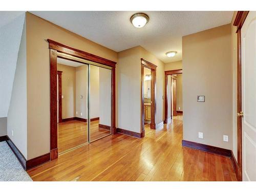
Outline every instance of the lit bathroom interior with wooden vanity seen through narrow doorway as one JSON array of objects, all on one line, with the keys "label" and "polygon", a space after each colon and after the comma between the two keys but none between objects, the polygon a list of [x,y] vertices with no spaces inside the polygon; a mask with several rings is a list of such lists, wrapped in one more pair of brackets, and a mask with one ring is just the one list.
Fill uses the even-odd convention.
[{"label": "lit bathroom interior with wooden vanity seen through narrow doorway", "polygon": [[144,124],[151,124],[151,70],[144,67]]}]

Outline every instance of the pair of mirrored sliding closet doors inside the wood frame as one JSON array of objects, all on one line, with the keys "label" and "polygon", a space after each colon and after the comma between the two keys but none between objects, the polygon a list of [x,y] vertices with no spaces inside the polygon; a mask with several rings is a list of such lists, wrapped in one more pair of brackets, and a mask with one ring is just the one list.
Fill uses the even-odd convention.
[{"label": "pair of mirrored sliding closet doors inside the wood frame", "polygon": [[111,134],[111,68],[65,54],[57,57],[58,153]]}]

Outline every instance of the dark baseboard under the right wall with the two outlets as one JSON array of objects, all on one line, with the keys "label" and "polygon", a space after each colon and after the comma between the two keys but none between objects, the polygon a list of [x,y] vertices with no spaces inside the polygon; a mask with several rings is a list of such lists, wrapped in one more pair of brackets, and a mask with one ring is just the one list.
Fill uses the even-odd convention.
[{"label": "dark baseboard under the right wall with the two outlets", "polygon": [[217,146],[205,145],[202,143],[196,143],[196,142],[186,141],[186,140],[182,140],[182,146],[194,148],[195,150],[201,150],[204,152],[223,155],[226,157],[231,157],[231,150],[227,150],[225,148],[220,148]]}]

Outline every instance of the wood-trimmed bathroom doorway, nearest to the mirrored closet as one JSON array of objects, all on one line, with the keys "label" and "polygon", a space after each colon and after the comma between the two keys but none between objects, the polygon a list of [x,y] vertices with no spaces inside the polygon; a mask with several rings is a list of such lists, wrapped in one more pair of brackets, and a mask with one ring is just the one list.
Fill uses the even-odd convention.
[{"label": "wood-trimmed bathroom doorway, nearest to the mirrored closet", "polygon": [[156,129],[156,68],[141,58],[141,137],[145,136],[145,126]]}]

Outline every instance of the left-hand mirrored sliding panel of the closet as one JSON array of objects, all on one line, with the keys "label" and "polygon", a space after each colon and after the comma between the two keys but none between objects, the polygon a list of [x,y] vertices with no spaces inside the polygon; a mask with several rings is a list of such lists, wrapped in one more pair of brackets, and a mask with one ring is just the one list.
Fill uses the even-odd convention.
[{"label": "left-hand mirrored sliding panel of the closet", "polygon": [[57,58],[58,152],[88,139],[88,65]]}]

